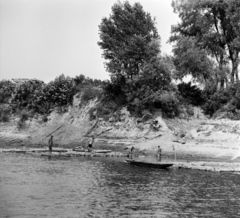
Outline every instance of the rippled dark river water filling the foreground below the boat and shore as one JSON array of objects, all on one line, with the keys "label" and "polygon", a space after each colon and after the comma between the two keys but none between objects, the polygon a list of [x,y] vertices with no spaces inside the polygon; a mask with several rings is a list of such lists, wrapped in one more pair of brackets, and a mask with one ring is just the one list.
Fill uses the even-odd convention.
[{"label": "rippled dark river water filling the foreground below the boat and shore", "polygon": [[0,217],[240,217],[240,175],[0,154]]}]

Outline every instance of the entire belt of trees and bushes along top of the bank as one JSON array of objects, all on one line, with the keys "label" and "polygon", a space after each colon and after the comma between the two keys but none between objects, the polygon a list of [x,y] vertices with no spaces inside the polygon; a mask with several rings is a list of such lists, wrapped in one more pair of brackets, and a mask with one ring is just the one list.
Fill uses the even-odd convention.
[{"label": "entire belt of trees and bushes along top of the bank", "polygon": [[[98,45],[110,80],[62,75],[48,84],[34,80],[18,87],[1,81],[0,103],[10,103],[14,113],[47,114],[64,111],[80,93],[82,102],[99,98],[92,118],[111,117],[122,107],[135,116],[161,111],[181,117],[199,106],[210,117],[239,119],[240,2],[173,0],[172,6],[180,17],[169,39],[172,56],[161,54],[156,20],[141,4],[117,2],[99,25]],[[195,85],[184,83],[186,76]]]}]

